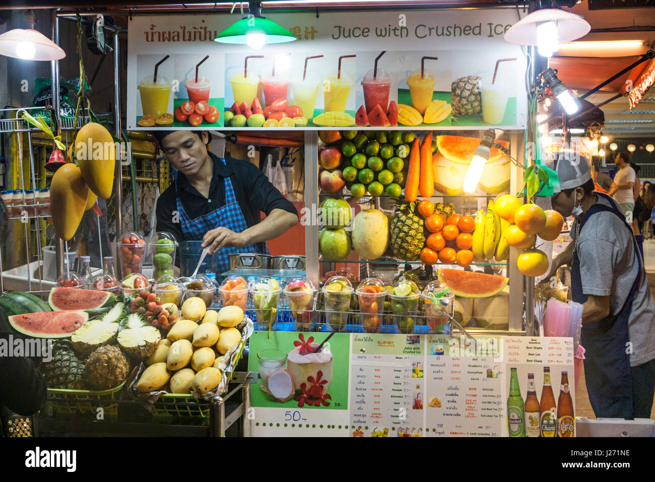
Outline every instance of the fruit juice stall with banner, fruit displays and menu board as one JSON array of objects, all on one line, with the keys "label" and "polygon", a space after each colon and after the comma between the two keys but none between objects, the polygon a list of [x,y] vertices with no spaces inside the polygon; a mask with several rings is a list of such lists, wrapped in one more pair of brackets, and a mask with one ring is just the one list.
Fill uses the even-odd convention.
[{"label": "fruit juice stall with banner, fruit displays and menu board", "polygon": [[[122,152],[92,163],[69,151],[77,164],[59,167],[50,188],[60,277],[47,303],[0,298],[16,331],[58,332],[42,367],[48,432],[77,420],[87,433],[102,407],[118,414],[107,433],[219,434],[236,421],[244,435],[525,433],[499,401],[489,408],[464,388],[506,397],[512,363],[523,393],[529,370],[572,371],[572,342],[534,326],[534,278],[549,264],[539,243],[561,219],[534,203],[546,171],[526,156],[527,58],[503,37],[515,12],[408,10],[398,30],[387,16],[398,23],[394,12],[271,14],[299,41],[261,49],[212,42],[231,23],[222,14],[130,17],[131,132],[215,129],[254,150],[262,137],[297,145],[285,131],[303,132],[305,253],[244,253],[221,273],[170,233],[146,237],[117,220],[113,258],[76,273],[63,242],[90,193],[121,199]],[[83,129],[115,139],[100,123]],[[184,277],[176,257],[190,266]],[[531,344],[548,343],[555,353],[535,359]],[[130,406],[150,422],[126,422]],[[180,425],[189,418],[200,432]]]}]

